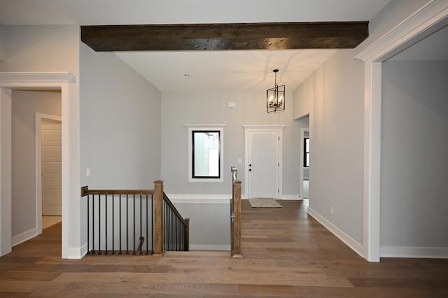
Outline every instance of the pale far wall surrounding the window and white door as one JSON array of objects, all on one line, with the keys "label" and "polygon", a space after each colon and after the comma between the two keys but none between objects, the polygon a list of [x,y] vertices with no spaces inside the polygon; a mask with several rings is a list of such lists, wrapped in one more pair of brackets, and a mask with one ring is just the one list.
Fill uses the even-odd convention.
[{"label": "pale far wall surrounding the window and white door", "polygon": [[[286,94],[293,94],[286,90]],[[291,90],[292,91],[292,90]],[[283,195],[298,197],[300,127],[293,121],[292,96],[286,110],[267,114],[266,91],[172,92],[162,94],[162,178],[169,194],[221,194],[232,192],[230,166],[237,166],[244,181],[244,128],[242,125],[287,125],[283,129]],[[235,108],[228,108],[228,101]],[[188,182],[188,128],[185,125],[225,124],[223,183]],[[241,163],[237,159],[241,159]]]}]

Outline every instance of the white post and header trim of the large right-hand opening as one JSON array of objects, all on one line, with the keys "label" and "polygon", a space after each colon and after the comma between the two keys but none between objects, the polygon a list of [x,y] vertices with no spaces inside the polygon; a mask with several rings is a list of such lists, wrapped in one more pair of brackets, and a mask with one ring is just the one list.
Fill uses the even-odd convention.
[{"label": "white post and header trim of the large right-hand opening", "polygon": [[363,257],[379,262],[382,62],[448,24],[447,1],[431,0],[354,58],[364,62]]}]

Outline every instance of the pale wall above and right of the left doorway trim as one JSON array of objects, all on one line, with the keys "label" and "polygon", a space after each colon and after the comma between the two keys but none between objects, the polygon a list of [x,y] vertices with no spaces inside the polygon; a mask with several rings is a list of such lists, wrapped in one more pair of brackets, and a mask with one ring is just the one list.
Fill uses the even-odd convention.
[{"label": "pale wall above and right of the left doorway trim", "polygon": [[[4,60],[0,71],[69,72],[77,82],[69,85],[69,127],[71,139],[68,165],[69,222],[68,246],[80,247],[79,183],[79,40],[78,26],[3,26]],[[63,119],[64,121],[64,119]],[[3,137],[3,135],[2,135]],[[2,227],[3,229],[3,227]],[[3,229],[4,230],[4,229]],[[3,231],[2,230],[2,231]]]}]

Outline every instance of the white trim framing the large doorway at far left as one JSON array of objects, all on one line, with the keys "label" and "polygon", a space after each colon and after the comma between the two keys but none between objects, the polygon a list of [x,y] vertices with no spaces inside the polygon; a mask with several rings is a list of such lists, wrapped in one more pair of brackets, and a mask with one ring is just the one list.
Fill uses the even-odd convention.
[{"label": "white trim framing the large doorway at far left", "polygon": [[[78,120],[78,110],[70,108],[69,99],[71,91],[69,85],[75,83],[75,76],[71,73],[0,73],[0,256],[12,251],[12,90],[45,88],[61,90],[61,116],[62,116],[62,258],[79,258],[80,253],[71,252],[69,248],[69,204],[71,187],[76,186],[79,192],[79,169],[71,163],[71,155],[77,154],[78,140],[73,136],[78,135],[78,128],[72,127],[71,120]],[[75,141],[73,141],[75,140]],[[70,143],[70,141],[73,141]],[[70,146],[71,145],[71,146]],[[71,148],[73,147],[73,148]],[[73,192],[72,192],[73,193]],[[74,199],[74,198],[73,198]],[[72,204],[73,205],[73,204]],[[74,215],[72,215],[73,217]],[[79,255],[79,256],[78,256]]]}]

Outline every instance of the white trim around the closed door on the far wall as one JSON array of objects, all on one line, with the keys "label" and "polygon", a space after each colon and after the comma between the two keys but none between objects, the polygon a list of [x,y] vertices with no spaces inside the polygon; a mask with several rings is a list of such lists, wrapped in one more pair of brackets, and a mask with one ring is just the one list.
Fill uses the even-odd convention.
[{"label": "white trim around the closed door on the far wall", "polygon": [[279,199],[283,197],[283,129],[286,125],[243,125],[244,128],[244,181],[246,187],[244,187],[244,198],[248,198],[248,157],[249,157],[249,132],[277,132],[280,136],[279,141]]}]

